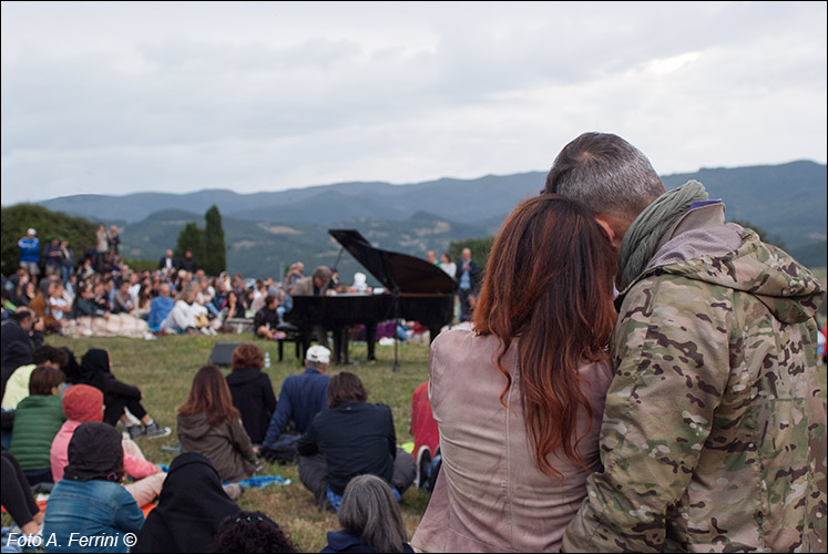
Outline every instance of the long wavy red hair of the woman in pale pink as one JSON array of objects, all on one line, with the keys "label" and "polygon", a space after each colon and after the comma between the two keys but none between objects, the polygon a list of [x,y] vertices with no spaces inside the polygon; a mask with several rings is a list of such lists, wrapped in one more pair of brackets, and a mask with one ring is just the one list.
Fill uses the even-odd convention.
[{"label": "long wavy red hair of the woman in pale pink", "polygon": [[[502,360],[518,343],[521,401],[535,464],[560,476],[549,454],[563,453],[586,469],[574,437],[577,412],[592,409],[577,368],[606,357],[615,324],[615,254],[584,206],[556,194],[523,202],[494,240],[473,314],[480,335],[494,335],[502,350],[493,357],[511,387]],[[589,432],[589,430],[587,430]],[[585,433],[584,433],[585,434]]]}]

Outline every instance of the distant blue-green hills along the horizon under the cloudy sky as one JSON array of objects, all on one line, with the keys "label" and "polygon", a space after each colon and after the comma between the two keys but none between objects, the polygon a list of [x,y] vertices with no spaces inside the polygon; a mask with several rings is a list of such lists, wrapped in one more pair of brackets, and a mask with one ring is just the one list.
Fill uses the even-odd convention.
[{"label": "distant blue-green hills along the horizon under the cloudy sky", "polygon": [[[779,237],[789,250],[800,248],[808,259],[819,259],[818,244],[826,240],[828,227],[826,176],[824,164],[793,162],[703,168],[662,178],[668,189],[691,178],[704,183],[712,198],[725,201],[728,219],[747,220]],[[309,267],[333,265],[339,246],[327,234],[329,228],[356,228],[378,247],[415,256],[443,252],[452,240],[494,233],[521,199],[541,191],[544,181],[545,172],[531,172],[410,185],[338,183],[256,194],[213,189],[76,195],[38,204],[123,225],[126,255],[146,259],[157,259],[175,246],[187,222],[203,227],[204,213],[215,204],[222,213],[229,269],[257,277],[278,275],[297,259]],[[350,255],[343,255],[344,277],[359,267]]]}]

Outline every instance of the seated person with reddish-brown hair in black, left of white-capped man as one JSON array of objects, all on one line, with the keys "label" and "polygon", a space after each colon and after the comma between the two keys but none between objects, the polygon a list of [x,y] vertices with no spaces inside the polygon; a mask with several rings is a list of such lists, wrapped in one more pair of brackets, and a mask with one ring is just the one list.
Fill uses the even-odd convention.
[{"label": "seated person with reddish-brown hair in black, left of white-capped man", "polygon": [[276,397],[267,373],[262,371],[265,357],[256,345],[239,345],[233,351],[233,371],[226,377],[233,406],[242,413],[242,423],[254,444],[260,444],[276,409]]}]

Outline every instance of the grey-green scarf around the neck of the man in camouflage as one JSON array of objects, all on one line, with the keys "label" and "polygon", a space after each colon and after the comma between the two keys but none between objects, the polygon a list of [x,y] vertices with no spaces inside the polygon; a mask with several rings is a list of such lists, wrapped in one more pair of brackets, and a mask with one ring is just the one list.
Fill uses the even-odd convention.
[{"label": "grey-green scarf around the neck of the man in camouflage", "polygon": [[647,268],[658,243],[694,202],[706,201],[707,191],[698,181],[688,181],[662,194],[630,225],[619,250],[621,275],[617,288],[624,290]]}]

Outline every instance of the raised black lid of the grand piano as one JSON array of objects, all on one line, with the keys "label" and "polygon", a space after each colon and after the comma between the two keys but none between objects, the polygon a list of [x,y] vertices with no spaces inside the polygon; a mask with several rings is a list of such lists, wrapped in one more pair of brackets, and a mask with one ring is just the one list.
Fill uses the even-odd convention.
[{"label": "raised black lid of the grand piano", "polygon": [[413,295],[450,295],[457,283],[446,271],[422,258],[375,248],[356,229],[328,229],[389,291]]}]

